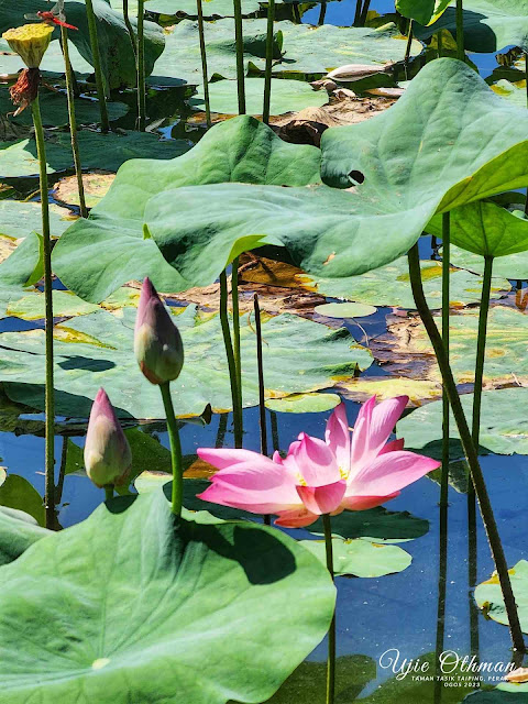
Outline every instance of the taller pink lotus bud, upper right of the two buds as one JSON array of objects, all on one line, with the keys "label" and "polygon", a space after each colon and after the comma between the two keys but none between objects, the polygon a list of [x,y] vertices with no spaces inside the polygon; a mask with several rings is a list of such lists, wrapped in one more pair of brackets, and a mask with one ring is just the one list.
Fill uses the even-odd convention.
[{"label": "taller pink lotus bud, upper right of the two buds", "polygon": [[151,384],[173,382],[184,365],[184,344],[150,278],[141,289],[135,319],[134,353]]}]

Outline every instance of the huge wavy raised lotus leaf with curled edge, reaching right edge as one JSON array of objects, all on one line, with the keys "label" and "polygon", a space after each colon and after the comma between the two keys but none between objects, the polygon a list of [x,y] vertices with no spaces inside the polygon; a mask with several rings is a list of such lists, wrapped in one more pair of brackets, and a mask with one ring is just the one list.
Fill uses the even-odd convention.
[{"label": "huge wavy raised lotus leaf with curled edge, reaching right edge", "polygon": [[[167,189],[148,201],[145,223],[194,285],[213,282],[249,244],[284,246],[309,274],[363,274],[405,254],[437,210],[527,184],[527,110],[442,58],[389,110],[323,133],[322,176],[339,188]],[[358,185],[345,190],[349,174]]]}]

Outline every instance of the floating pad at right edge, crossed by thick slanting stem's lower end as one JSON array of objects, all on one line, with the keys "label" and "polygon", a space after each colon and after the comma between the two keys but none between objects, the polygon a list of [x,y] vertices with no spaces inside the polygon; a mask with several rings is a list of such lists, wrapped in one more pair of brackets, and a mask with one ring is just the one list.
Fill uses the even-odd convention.
[{"label": "floating pad at right edge, crossed by thick slanting stem's lower end", "polygon": [[[528,632],[528,562],[520,560],[508,570],[514,590],[515,603],[519,614],[522,631]],[[475,588],[475,601],[485,610],[486,616],[499,624],[508,625],[508,617],[498,578],[494,574]]]}]

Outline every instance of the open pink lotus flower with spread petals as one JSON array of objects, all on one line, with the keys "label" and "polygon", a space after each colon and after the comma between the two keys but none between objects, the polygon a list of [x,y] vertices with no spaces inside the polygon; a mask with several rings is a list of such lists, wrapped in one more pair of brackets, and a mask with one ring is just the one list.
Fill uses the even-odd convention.
[{"label": "open pink lotus flower with spread petals", "polygon": [[326,440],[300,433],[283,460],[250,450],[210,450],[198,455],[219,469],[199,498],[253,514],[276,514],[278,526],[309,526],[322,514],[374,508],[440,466],[387,440],[408,402],[398,396],[361,408],[352,438],[344,404],[327,422]]}]

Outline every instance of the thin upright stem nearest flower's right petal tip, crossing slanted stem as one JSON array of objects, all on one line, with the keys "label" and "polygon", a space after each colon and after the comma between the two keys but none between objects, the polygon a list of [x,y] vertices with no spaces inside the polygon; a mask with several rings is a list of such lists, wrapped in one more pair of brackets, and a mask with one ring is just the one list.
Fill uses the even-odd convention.
[{"label": "thin upright stem nearest flower's right petal tip, crossing slanted stem", "polygon": [[[442,215],[442,342],[449,362],[449,304],[451,268],[451,219]],[[442,389],[442,474],[440,481],[440,506],[448,506],[449,493],[449,398]]]}]

